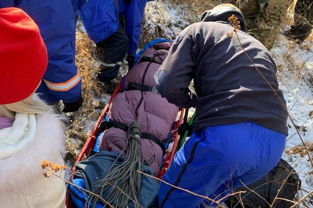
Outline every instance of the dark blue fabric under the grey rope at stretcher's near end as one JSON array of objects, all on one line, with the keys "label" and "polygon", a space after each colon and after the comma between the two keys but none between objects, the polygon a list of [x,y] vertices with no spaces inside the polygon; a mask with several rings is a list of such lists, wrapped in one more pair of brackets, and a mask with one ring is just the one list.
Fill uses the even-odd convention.
[{"label": "dark blue fabric under the grey rope at stretcher's near end", "polygon": [[[71,180],[72,183],[81,186],[82,184],[79,184],[77,180],[83,179],[85,189],[87,189],[88,191],[93,191],[94,183],[101,178],[105,178],[109,169],[115,161],[116,165],[121,165],[123,163],[124,158],[118,157],[119,154],[119,152],[100,151],[99,153],[96,153],[89,158],[76,163],[76,172],[74,173],[74,177]],[[140,170],[147,175],[154,176],[153,171],[149,166],[142,165]],[[67,188],[69,190],[69,193],[71,194],[73,205],[71,208],[85,207],[86,198],[82,197],[81,194],[78,195],[78,189],[72,184],[69,184]],[[158,180],[152,177],[148,177],[146,175],[141,175],[140,192],[137,197],[138,203],[144,208],[158,207],[159,188],[160,183],[158,182]],[[102,193],[101,196],[103,199],[107,199],[107,196],[110,193],[111,189],[112,187]],[[101,203],[101,200],[99,200],[99,205],[97,205],[96,207],[99,207],[100,204],[101,206],[104,205]],[[129,200],[128,207],[134,208],[134,202]]]}]

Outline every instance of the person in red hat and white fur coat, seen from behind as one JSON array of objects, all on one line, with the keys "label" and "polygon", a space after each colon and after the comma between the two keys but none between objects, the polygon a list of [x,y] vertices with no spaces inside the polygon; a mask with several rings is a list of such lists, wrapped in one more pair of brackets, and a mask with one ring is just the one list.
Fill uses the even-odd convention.
[{"label": "person in red hat and white fur coat, seen from behind", "polygon": [[48,63],[39,29],[21,9],[0,9],[0,45],[0,206],[65,207],[65,183],[40,166],[64,164],[65,134],[34,93]]}]

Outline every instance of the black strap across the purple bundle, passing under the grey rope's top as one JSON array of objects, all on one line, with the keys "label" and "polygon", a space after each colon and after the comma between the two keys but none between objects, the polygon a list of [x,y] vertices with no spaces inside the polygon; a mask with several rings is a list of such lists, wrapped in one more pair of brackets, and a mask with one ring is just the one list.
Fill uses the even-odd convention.
[{"label": "black strap across the purple bundle, passing under the grey rope's top", "polygon": [[[98,132],[103,132],[106,129],[109,129],[111,127],[122,129],[125,132],[127,132],[127,130],[128,130],[128,125],[126,125],[123,122],[120,122],[120,121],[102,121],[102,123],[99,126]],[[154,142],[155,144],[159,145],[163,151],[163,155],[165,155],[166,150],[165,150],[164,144],[160,142],[158,137],[156,137],[150,133],[141,132],[141,138],[146,138],[147,140],[150,140],[150,141]]]}]

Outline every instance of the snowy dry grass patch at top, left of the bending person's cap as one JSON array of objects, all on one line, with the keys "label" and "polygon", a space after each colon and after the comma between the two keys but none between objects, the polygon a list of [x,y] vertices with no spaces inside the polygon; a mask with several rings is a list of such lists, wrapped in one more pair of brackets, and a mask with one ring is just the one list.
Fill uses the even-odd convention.
[{"label": "snowy dry grass patch at top, left of the bending person's cap", "polygon": [[[158,2],[149,2],[147,5],[139,47],[143,47],[155,38],[175,40],[185,27],[200,20],[203,8],[210,10],[214,7],[212,1],[191,0],[159,0]],[[169,11],[184,17],[184,21],[180,18],[175,19]]]}]

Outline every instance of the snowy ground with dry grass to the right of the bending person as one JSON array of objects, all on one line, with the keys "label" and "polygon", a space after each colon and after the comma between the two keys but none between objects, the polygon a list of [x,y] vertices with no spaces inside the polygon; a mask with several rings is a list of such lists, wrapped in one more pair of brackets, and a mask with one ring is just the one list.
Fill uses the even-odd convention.
[{"label": "snowy ground with dry grass to the right of the bending person", "polygon": [[[283,158],[299,173],[302,181],[299,193],[301,198],[313,190],[313,169],[310,162],[313,157],[313,50],[309,41],[295,44],[283,35],[280,39],[271,52],[278,68],[281,67],[278,78],[280,89],[287,101],[287,109],[303,140],[302,142],[296,128],[288,119],[289,135]],[[303,143],[310,150],[310,159],[305,153]],[[312,202],[313,197],[310,196],[303,205],[313,207]]]}]

